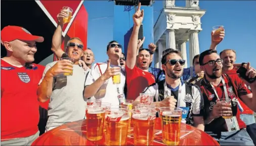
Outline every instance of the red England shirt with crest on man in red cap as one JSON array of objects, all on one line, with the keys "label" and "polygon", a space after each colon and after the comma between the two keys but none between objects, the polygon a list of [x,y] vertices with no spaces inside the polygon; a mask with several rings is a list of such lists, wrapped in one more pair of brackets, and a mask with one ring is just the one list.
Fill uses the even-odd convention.
[{"label": "red England shirt with crest on man in red cap", "polygon": [[15,67],[1,59],[1,140],[38,131],[37,87],[45,67]]}]

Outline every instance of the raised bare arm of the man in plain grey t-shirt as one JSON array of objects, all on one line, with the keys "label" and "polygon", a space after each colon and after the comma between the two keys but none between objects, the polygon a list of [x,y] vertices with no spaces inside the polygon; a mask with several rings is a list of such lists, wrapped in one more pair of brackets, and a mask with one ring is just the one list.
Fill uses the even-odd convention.
[{"label": "raised bare arm of the man in plain grey t-shirt", "polygon": [[61,42],[62,42],[62,28],[63,28],[63,18],[67,17],[67,13],[61,10],[61,12],[57,15],[58,18],[58,25],[53,34],[52,40],[52,52],[54,55],[60,60],[63,53],[65,53],[61,49]]}]

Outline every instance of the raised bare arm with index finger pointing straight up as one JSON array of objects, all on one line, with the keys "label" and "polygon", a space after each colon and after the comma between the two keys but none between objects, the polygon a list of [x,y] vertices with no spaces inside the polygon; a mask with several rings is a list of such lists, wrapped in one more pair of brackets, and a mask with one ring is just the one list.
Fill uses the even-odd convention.
[{"label": "raised bare arm with index finger pointing straight up", "polygon": [[144,11],[141,10],[141,3],[139,3],[137,12],[133,16],[134,27],[133,27],[132,35],[130,37],[129,44],[128,44],[128,49],[127,49],[126,66],[130,69],[133,69],[134,66],[136,65],[138,35],[139,35],[140,26],[143,21],[143,17],[144,17]]}]

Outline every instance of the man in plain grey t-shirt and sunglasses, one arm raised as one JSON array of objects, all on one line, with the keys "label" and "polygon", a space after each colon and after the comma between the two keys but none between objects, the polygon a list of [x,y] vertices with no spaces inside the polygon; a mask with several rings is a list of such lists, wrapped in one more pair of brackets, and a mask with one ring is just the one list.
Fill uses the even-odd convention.
[{"label": "man in plain grey t-shirt and sunglasses, one arm raised", "polygon": [[[61,49],[62,19],[66,16],[63,10],[58,14],[59,23],[53,35],[52,51],[58,59],[71,58],[73,62],[60,60],[47,64],[37,92],[40,102],[51,99],[46,131],[67,122],[82,120],[86,110],[82,92],[87,71],[78,65],[83,56],[83,43],[78,37],[74,37],[67,42],[67,54]],[[63,75],[70,73],[70,70],[73,75]]]}]

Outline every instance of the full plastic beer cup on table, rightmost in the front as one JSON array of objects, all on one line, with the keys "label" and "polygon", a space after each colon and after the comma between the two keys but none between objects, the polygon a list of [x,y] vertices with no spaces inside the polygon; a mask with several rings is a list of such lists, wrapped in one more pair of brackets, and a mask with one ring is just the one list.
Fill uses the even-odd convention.
[{"label": "full plastic beer cup on table, rightmost in the front", "polygon": [[179,145],[181,135],[181,108],[162,107],[160,118],[162,125],[162,141],[166,145]]}]

